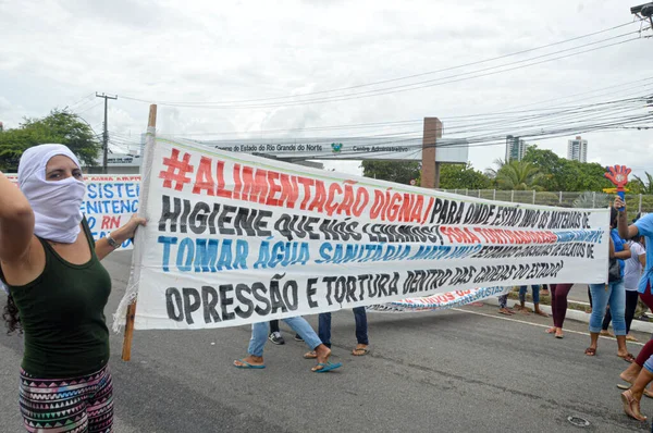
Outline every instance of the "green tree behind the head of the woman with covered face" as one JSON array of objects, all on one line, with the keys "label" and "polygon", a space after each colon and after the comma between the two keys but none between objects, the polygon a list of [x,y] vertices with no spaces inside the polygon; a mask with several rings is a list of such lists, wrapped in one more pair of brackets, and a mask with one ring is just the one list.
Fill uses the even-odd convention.
[{"label": "green tree behind the head of the woman with covered face", "polygon": [[36,145],[67,146],[84,165],[96,165],[101,149],[90,126],[76,114],[52,110],[42,119],[25,119],[20,127],[0,132],[0,170],[15,172],[23,152]]}]

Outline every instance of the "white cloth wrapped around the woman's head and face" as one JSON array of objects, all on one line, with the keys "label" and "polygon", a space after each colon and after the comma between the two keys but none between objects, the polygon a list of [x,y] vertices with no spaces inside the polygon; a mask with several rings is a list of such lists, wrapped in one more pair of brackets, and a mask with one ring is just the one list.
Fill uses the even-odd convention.
[{"label": "white cloth wrapped around the woman's head and face", "polygon": [[71,176],[47,181],[46,165],[62,154],[79,168],[77,157],[63,145],[39,145],[23,152],[19,163],[19,186],[34,211],[34,234],[44,239],[72,244],[79,235],[86,184]]}]

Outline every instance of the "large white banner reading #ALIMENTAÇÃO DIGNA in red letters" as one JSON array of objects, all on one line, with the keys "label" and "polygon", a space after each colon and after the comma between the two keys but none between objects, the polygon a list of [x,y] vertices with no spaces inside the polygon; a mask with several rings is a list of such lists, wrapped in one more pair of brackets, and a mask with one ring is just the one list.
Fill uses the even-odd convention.
[{"label": "large white banner reading #ALIMENTA\u00c7\u00c3O DIGNA in red letters", "polygon": [[149,224],[121,302],[137,293],[136,329],[607,277],[608,209],[479,200],[161,137],[148,151]]}]

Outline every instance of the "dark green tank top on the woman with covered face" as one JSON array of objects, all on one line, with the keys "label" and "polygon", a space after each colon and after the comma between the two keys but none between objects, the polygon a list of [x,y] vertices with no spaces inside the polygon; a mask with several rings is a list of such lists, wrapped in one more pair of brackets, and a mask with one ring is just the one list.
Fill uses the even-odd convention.
[{"label": "dark green tank top on the woman with covered face", "polygon": [[[36,378],[86,375],[109,361],[104,307],[111,277],[95,253],[86,219],[82,225],[90,246],[87,263],[69,263],[39,238],[46,251],[44,272],[24,286],[8,285],[25,333],[22,367]],[[0,276],[4,280],[1,269]]]}]

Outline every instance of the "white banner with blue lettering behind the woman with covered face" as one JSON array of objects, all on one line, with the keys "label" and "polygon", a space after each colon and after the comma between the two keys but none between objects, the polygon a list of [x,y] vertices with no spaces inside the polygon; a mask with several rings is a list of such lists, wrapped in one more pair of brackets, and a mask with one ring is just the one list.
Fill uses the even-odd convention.
[{"label": "white banner with blue lettering behind the woman with covered face", "polygon": [[[5,174],[7,178],[19,183],[16,174]],[[82,203],[82,213],[86,215],[90,233],[95,240],[107,236],[113,230],[125,224],[138,212],[140,195],[140,175],[138,174],[85,174],[86,197]],[[132,249],[127,239],[122,249]]]}]

